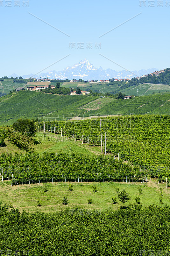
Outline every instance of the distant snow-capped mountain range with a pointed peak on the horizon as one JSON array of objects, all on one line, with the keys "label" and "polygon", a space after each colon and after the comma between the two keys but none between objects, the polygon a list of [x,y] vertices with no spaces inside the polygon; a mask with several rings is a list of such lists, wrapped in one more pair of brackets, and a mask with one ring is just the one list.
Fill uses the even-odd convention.
[{"label": "distant snow-capped mountain range with a pointed peak on the horizon", "polygon": [[[132,78],[137,76],[143,76],[146,74],[150,74],[154,71],[158,71],[157,68],[149,68],[149,69],[141,69],[139,71],[128,71],[128,70],[122,70],[122,71],[115,71],[113,69],[106,69],[104,70],[102,67],[96,68],[91,64],[87,59],[81,60],[79,63],[75,64],[72,67],[66,67],[61,71],[51,70],[46,73],[41,73],[39,75],[29,74],[29,75],[23,75],[22,77],[24,79],[26,78],[36,78],[40,79],[40,77],[48,77],[49,79],[83,79],[83,80],[107,80],[111,78],[115,79],[125,79],[125,78]],[[12,74],[8,77],[13,76],[18,77],[17,74]]]}]

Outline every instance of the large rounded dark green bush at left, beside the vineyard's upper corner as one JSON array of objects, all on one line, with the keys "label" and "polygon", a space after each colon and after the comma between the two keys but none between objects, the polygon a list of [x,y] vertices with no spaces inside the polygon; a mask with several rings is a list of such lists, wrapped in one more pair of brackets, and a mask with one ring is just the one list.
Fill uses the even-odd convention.
[{"label": "large rounded dark green bush at left, beside the vineyard's upper corner", "polygon": [[33,136],[37,130],[34,120],[21,118],[12,124],[12,128],[18,132],[26,132],[29,137]]}]

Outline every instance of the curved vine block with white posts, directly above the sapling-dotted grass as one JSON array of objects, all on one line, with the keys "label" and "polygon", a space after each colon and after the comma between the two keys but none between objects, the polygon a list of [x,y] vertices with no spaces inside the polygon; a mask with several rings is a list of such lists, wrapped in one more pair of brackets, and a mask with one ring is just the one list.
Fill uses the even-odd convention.
[{"label": "curved vine block with white posts, directly above the sapling-dotted grass", "polygon": [[145,171],[120,163],[114,156],[83,156],[54,152],[45,152],[40,156],[31,152],[15,156],[2,154],[0,166],[3,177],[11,180],[12,174],[14,175],[13,184],[61,181],[144,182],[147,178]]}]

